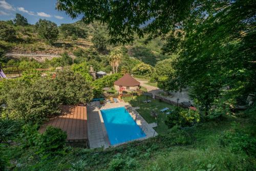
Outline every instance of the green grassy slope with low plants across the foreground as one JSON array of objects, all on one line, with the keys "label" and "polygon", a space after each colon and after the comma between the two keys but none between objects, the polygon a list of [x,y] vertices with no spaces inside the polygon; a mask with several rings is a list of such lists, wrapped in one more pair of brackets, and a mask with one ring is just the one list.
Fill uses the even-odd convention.
[{"label": "green grassy slope with low plants across the foreground", "polygon": [[[250,129],[253,123],[247,122],[251,118],[239,120],[242,121],[241,123],[247,123],[245,126],[240,125],[239,130],[247,132],[250,139],[253,138],[253,130]],[[16,163],[9,162],[6,168],[20,170],[207,170],[209,164],[211,168],[217,170],[255,169],[253,156],[248,156],[243,150],[239,151],[238,155],[230,148],[233,143],[236,144],[233,140],[241,137],[240,135],[234,134],[231,139],[226,137],[229,143],[225,145],[221,142],[222,133],[238,131],[233,130],[230,122],[231,118],[228,118],[227,121],[203,123],[188,129],[175,126],[166,136],[157,136],[104,150],[64,147],[57,153],[54,152],[54,155],[47,156],[36,153],[39,149],[37,145],[20,148],[14,143],[2,148],[3,155],[0,158],[8,162],[17,160]],[[60,133],[54,134],[53,142],[58,139],[58,134]]]}]

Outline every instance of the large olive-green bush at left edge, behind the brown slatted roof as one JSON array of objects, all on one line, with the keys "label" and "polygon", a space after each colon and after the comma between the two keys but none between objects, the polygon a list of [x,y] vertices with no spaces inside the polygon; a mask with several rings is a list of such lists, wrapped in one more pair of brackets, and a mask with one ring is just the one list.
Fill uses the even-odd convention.
[{"label": "large olive-green bush at left edge, behind the brown slatted roof", "polygon": [[1,94],[0,99],[7,103],[9,117],[23,119],[26,122],[42,122],[59,114],[59,97],[58,92],[54,90],[53,80],[29,80],[22,77],[4,84],[2,90],[5,90],[5,93]]}]

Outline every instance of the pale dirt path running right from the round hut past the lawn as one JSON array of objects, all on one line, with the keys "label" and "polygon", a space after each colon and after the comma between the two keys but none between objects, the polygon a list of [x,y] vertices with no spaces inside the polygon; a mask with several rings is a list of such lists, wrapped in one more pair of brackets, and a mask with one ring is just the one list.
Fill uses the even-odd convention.
[{"label": "pale dirt path running right from the round hut past the lawn", "polygon": [[[146,88],[148,93],[152,93],[153,97],[155,97],[155,95],[159,95],[161,92],[163,92],[163,90],[160,90],[157,87],[147,85],[146,83],[148,81],[144,81],[144,80],[140,80],[140,79],[137,79],[137,81],[140,82],[140,85],[142,87]],[[183,90],[182,92],[171,92],[171,94],[172,94],[172,97],[166,97],[166,98],[170,99],[172,101],[177,101],[177,98],[179,98],[179,102],[190,100],[191,103],[193,103],[193,100],[189,99],[188,90]]]}]

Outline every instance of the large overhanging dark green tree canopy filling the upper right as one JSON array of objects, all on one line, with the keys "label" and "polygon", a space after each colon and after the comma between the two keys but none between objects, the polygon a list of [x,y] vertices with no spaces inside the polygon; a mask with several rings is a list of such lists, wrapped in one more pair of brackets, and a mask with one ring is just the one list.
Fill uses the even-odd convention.
[{"label": "large overhanging dark green tree canopy filling the upper right", "polygon": [[[167,90],[191,87],[206,113],[255,92],[255,1],[59,0],[57,9],[82,14],[86,23],[105,23],[110,42],[129,42],[135,34],[147,34],[146,42],[165,39],[163,52],[178,57],[162,83]],[[225,86],[231,90],[222,91]]]}]

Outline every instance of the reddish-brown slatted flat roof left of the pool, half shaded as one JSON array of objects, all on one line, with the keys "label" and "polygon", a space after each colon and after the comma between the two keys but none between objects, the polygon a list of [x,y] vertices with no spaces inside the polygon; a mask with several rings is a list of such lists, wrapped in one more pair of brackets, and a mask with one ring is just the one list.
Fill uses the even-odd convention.
[{"label": "reddish-brown slatted flat roof left of the pool, half shaded", "polygon": [[49,125],[59,127],[62,131],[67,132],[67,141],[69,142],[88,143],[86,106],[62,105],[61,115],[42,125],[39,132],[44,132]]}]

